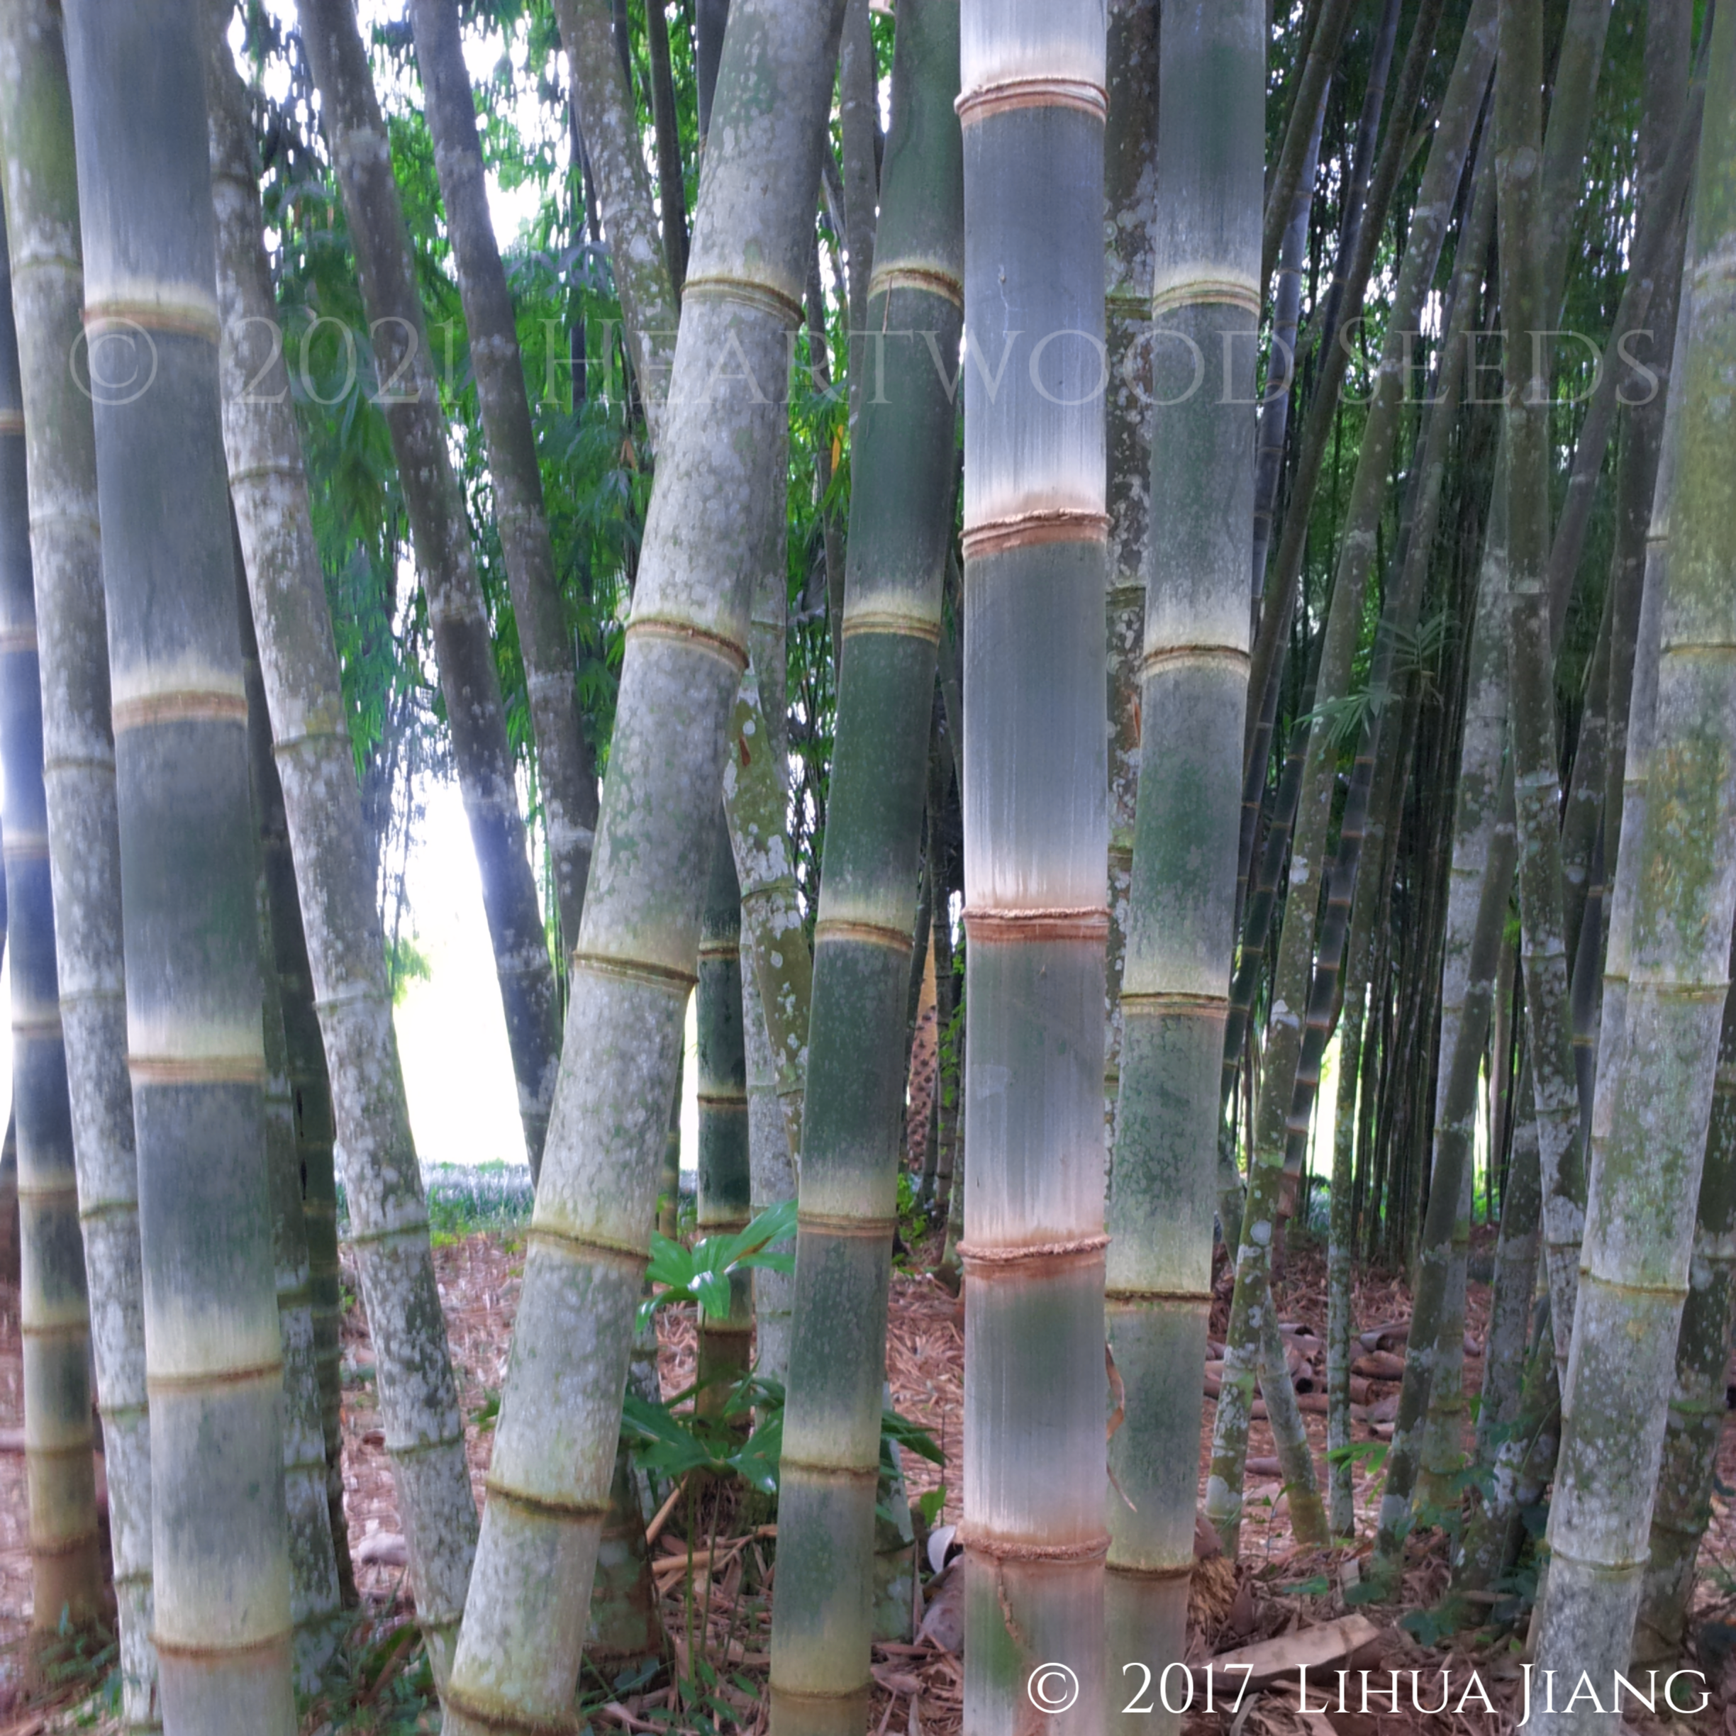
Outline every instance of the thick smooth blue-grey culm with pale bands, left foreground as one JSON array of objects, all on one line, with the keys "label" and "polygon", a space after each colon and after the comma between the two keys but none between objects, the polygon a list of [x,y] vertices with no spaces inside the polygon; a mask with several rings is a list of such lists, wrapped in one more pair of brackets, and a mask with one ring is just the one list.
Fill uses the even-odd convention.
[{"label": "thick smooth blue-grey culm with pale bands, left foreground", "polygon": [[130,401],[97,394],[94,418],[163,1724],[175,1736],[293,1736],[257,840],[219,420],[203,24],[186,0],[125,12],[76,0],[66,57],[85,332],[118,354],[148,349],[155,366]]}]

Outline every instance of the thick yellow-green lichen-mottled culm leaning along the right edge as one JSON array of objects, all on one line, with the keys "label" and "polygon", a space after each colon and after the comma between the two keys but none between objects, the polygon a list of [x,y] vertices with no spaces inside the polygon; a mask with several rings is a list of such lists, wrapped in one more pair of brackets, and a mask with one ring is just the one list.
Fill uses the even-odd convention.
[{"label": "thick yellow-green lichen-mottled culm leaning along the right edge", "polygon": [[[1608,1132],[1594,1153],[1536,1639],[1538,1665],[1557,1670],[1627,1658],[1634,1639],[1736,911],[1736,16],[1720,9],[1712,30],[1672,382],[1679,444],[1653,509],[1672,543],[1656,734],[1644,832],[1618,870],[1634,887],[1627,1040],[1597,1082],[1611,1108],[1595,1116]],[[1583,1708],[1543,1720],[1550,1733],[1592,1724]]]}]

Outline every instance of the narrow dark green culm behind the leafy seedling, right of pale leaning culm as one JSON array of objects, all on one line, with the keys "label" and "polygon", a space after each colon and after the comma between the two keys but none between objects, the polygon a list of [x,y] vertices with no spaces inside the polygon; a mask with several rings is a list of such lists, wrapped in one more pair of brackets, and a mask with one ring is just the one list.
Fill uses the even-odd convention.
[{"label": "narrow dark green culm behind the leafy seedling, right of pale leaning culm", "polygon": [[[752,1213],[748,1172],[748,1064],[741,1031],[741,887],[719,809],[712,871],[700,911],[700,1175],[701,1236],[733,1236]],[[746,1272],[729,1279],[726,1319],[700,1316],[701,1408],[720,1408],[729,1382],[753,1359],[753,1292]]]}]

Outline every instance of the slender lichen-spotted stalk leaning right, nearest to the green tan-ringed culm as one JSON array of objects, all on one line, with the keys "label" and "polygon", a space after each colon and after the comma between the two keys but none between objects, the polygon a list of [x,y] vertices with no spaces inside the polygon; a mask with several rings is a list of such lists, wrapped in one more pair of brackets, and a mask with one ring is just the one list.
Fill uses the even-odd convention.
[{"label": "slender lichen-spotted stalk leaning right, nearest to the green tan-ringed culm", "polygon": [[[1422,24],[1418,23],[1417,28],[1420,30]],[[1493,0],[1479,0],[1465,21],[1458,56],[1441,99],[1441,118],[1429,148],[1404,260],[1394,290],[1392,314],[1382,340],[1375,396],[1363,429],[1356,481],[1326,616],[1316,705],[1340,698],[1349,687],[1351,660],[1361,632],[1363,594],[1375,556],[1377,521],[1404,408],[1406,339],[1401,333],[1417,328],[1424,300],[1434,281],[1493,59]],[[1396,113],[1403,113],[1403,104]],[[1290,852],[1290,889],[1278,965],[1272,976],[1272,1009],[1267,1021],[1250,1142],[1248,1198],[1243,1208],[1236,1288],[1224,1345],[1224,1394],[1219,1399],[1212,1434],[1207,1516],[1219,1526],[1220,1535],[1227,1529],[1226,1547],[1229,1536],[1234,1536],[1241,1516],[1241,1470],[1246,1457],[1248,1408],[1253,1403],[1253,1364],[1262,1309],[1269,1307],[1271,1243],[1276,1215],[1281,1210],[1288,1116],[1302,1057],[1302,1023],[1314,962],[1316,903],[1321,884],[1319,861],[1326,845],[1335,795],[1335,767],[1337,752],[1332,733],[1314,729],[1309,738]],[[1335,918],[1335,934],[1342,957],[1342,913]],[[1333,969],[1337,969],[1337,962],[1335,958]],[[1278,1378],[1279,1371],[1271,1370],[1269,1384],[1276,1384]],[[1290,1514],[1292,1522],[1299,1526],[1299,1536],[1305,1535],[1300,1528],[1304,1517],[1309,1521],[1318,1517],[1319,1529],[1325,1531],[1325,1514],[1319,1510],[1318,1496],[1314,1496],[1312,1507],[1311,1514],[1305,1496],[1299,1505],[1299,1491],[1290,1491]]]}]

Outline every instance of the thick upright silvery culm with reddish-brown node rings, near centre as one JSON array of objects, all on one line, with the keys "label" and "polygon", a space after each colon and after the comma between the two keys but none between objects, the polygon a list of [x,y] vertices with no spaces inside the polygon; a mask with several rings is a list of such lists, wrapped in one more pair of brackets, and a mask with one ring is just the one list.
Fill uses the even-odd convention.
[{"label": "thick upright silvery culm with reddish-brown node rings, near centre", "polygon": [[1104,1717],[1101,0],[965,0],[960,83],[965,1729],[988,1736],[1049,1660],[1076,1670],[1069,1720]]}]

